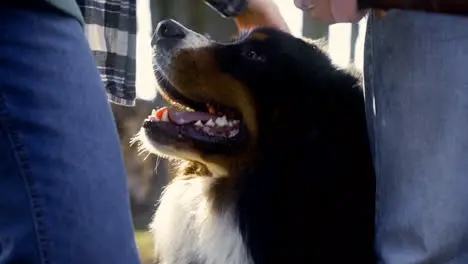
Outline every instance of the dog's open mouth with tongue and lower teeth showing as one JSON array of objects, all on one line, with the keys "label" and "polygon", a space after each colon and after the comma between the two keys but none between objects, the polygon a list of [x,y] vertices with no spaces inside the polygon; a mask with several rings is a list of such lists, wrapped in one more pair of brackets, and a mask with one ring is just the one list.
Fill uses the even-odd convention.
[{"label": "dog's open mouth with tongue and lower teeth showing", "polygon": [[237,110],[216,102],[199,102],[187,98],[161,74],[157,76],[163,97],[171,104],[187,110],[176,111],[167,107],[153,110],[143,125],[153,141],[190,144],[190,147],[220,154],[244,145],[247,133]]}]

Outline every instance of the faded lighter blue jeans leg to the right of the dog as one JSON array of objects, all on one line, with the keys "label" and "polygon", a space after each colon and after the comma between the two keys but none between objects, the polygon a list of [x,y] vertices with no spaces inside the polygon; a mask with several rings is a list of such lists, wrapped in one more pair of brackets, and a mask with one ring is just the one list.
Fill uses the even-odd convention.
[{"label": "faded lighter blue jeans leg to the right of the dog", "polygon": [[468,263],[468,19],[369,17],[365,88],[386,264]]}]

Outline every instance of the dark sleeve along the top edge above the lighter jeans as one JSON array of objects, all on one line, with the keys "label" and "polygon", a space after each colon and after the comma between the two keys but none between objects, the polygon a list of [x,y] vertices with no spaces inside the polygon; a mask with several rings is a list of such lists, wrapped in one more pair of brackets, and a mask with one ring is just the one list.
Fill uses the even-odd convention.
[{"label": "dark sleeve along the top edge above the lighter jeans", "polygon": [[406,9],[468,15],[467,0],[358,0],[359,9]]}]

